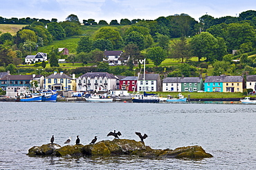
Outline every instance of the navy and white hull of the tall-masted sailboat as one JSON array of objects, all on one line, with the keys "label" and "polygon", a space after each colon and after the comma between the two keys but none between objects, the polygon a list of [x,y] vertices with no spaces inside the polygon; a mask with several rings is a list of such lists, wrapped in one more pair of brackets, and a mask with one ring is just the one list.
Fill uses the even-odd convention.
[{"label": "navy and white hull of the tall-masted sailboat", "polygon": [[159,97],[156,94],[136,94],[131,100],[133,103],[159,103]]}]

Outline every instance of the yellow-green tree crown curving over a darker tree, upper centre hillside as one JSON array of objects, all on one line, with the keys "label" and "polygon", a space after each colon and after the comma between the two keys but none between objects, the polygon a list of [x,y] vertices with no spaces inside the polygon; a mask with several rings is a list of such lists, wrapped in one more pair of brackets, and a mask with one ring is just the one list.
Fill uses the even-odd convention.
[{"label": "yellow-green tree crown curving over a darker tree, upper centre hillside", "polygon": [[114,49],[119,49],[123,45],[120,33],[111,27],[100,28],[100,30],[96,31],[94,34],[94,41],[96,39],[106,39],[111,41]]}]

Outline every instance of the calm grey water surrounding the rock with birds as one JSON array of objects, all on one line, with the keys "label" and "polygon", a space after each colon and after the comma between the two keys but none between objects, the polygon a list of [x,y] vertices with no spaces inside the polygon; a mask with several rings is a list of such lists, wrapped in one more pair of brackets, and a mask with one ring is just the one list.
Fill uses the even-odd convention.
[{"label": "calm grey water surrounding the rock with birds", "polygon": [[[0,103],[0,169],[256,169],[256,105],[140,103]],[[203,160],[136,156],[28,157],[28,149],[50,142],[63,146],[80,135],[83,145],[109,131],[154,149],[200,145]]]}]

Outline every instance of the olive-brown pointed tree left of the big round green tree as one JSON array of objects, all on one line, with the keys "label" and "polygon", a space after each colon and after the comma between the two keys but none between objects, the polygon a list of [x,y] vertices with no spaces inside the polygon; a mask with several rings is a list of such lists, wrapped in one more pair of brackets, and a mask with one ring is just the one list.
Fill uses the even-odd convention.
[{"label": "olive-brown pointed tree left of the big round green tree", "polygon": [[181,59],[181,63],[183,63],[184,59],[190,59],[191,56],[190,45],[187,39],[185,39],[185,36],[182,36],[179,41],[174,41],[171,50],[171,58]]}]

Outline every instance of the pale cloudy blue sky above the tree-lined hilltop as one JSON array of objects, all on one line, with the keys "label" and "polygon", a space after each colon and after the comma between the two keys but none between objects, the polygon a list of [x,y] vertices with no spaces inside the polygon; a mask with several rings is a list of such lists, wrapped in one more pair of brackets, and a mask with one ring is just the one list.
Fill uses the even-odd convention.
[{"label": "pale cloudy blue sky above the tree-lined hilltop", "polygon": [[107,21],[120,19],[157,19],[188,14],[199,21],[204,14],[214,18],[238,17],[256,10],[255,0],[0,0],[0,17],[57,19],[66,21],[70,14],[84,19]]}]

